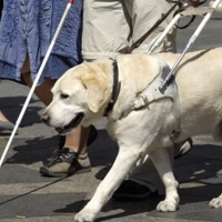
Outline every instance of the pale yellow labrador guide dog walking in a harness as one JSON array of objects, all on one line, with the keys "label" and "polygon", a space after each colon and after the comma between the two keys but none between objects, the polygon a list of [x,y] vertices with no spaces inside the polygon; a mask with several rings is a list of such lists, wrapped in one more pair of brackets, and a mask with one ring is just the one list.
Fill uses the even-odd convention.
[{"label": "pale yellow labrador guide dog walking in a harness", "polygon": [[[165,185],[165,199],[157,209],[175,211],[178,182],[167,148],[198,134],[222,139],[222,48],[188,53],[176,70],[175,81],[170,80],[160,90],[165,70],[178,58],[173,53],[124,54],[117,62],[83,62],[54,84],[53,100],[42,114],[47,124],[67,134],[79,124],[88,127],[107,115],[108,132],[119,144],[114,164],[75,221],[94,221],[145,154]],[[210,205],[221,208],[222,195]]]}]

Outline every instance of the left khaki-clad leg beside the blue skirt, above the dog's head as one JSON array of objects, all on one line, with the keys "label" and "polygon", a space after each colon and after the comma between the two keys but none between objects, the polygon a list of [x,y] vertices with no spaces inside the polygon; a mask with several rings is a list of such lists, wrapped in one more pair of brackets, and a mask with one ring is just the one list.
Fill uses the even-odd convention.
[{"label": "left khaki-clad leg beside the blue skirt, above the dog's head", "polygon": [[[83,60],[115,58],[129,48],[130,27],[120,0],[87,0],[83,8]],[[89,38],[90,37],[90,38]]]}]

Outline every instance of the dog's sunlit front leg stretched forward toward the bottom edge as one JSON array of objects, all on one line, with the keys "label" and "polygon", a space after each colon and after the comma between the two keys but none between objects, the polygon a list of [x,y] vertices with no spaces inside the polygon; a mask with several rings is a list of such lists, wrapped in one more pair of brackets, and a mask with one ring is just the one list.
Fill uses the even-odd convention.
[{"label": "dog's sunlit front leg stretched forward toward the bottom edge", "polygon": [[91,201],[75,215],[74,220],[77,222],[94,221],[102,206],[110,200],[113,192],[127,178],[130,170],[138,161],[139,155],[140,153],[132,149],[130,150],[128,148],[124,150],[120,148],[112,168],[98,186]]}]

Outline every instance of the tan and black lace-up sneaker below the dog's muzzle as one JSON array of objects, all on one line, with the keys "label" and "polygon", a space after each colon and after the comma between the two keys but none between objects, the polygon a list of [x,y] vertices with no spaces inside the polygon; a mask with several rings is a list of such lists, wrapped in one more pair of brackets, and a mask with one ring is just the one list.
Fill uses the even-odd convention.
[{"label": "tan and black lace-up sneaker below the dog's muzzle", "polygon": [[44,176],[58,178],[90,171],[91,164],[87,153],[78,154],[69,148],[63,148],[59,155],[41,167],[39,172]]}]

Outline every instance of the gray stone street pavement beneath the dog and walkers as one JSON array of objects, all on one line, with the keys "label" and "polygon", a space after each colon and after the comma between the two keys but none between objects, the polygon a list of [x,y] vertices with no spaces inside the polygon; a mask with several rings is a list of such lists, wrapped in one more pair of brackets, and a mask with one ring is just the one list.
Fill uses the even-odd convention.
[{"label": "gray stone street pavement beneath the dog and walkers", "polygon": [[[215,13],[191,50],[222,44],[222,13]],[[178,36],[181,51],[200,19]],[[195,73],[193,73],[195,74]],[[0,109],[16,122],[29,89],[3,80],[0,84]],[[44,105],[36,95],[22,119],[18,134],[0,169],[0,221],[68,222],[90,200],[97,185],[109,171],[117,144],[104,130],[105,120],[95,123],[99,135],[89,147],[92,171],[69,178],[43,178],[39,174],[41,161],[50,157],[58,145],[57,133],[40,120]],[[0,154],[7,144],[8,133],[0,132]],[[203,222],[222,221],[222,210],[209,209],[209,201],[221,193],[222,149],[209,137],[194,138],[192,151],[175,161],[175,176],[180,182],[180,210],[159,213],[157,203],[163,196],[141,202],[110,201],[97,221],[130,222]],[[24,219],[17,219],[24,216]]]}]

